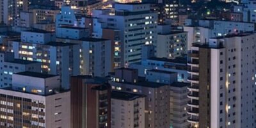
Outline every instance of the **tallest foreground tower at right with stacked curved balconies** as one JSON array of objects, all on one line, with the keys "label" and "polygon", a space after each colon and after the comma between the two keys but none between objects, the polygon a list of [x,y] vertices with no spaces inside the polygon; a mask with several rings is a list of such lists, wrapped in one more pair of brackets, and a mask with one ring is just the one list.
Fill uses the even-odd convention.
[{"label": "tallest foreground tower at right with stacked curved balconies", "polygon": [[255,127],[255,34],[211,38],[191,50],[191,127]]}]

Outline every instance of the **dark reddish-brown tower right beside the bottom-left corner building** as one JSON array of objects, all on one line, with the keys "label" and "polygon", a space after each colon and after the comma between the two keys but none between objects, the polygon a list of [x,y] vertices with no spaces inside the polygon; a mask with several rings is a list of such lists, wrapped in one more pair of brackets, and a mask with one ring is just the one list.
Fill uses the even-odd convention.
[{"label": "dark reddish-brown tower right beside the bottom-left corner building", "polygon": [[70,92],[71,128],[111,127],[111,87],[108,79],[74,76]]}]

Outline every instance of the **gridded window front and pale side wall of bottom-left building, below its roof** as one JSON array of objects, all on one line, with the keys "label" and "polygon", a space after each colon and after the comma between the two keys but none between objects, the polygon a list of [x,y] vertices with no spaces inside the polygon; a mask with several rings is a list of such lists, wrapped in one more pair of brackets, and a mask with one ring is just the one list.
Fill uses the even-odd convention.
[{"label": "gridded window front and pale side wall of bottom-left building, below its roof", "polygon": [[[1,126],[69,127],[70,92],[50,96],[0,90]],[[65,102],[63,102],[65,99]],[[57,107],[56,107],[57,106]],[[8,108],[6,110],[6,108]],[[8,114],[6,112],[8,111]],[[17,116],[19,115],[19,116]],[[8,122],[4,118],[8,116]],[[14,121],[15,122],[14,122]],[[23,122],[23,123],[22,123]],[[5,125],[5,126],[4,126]]]}]

